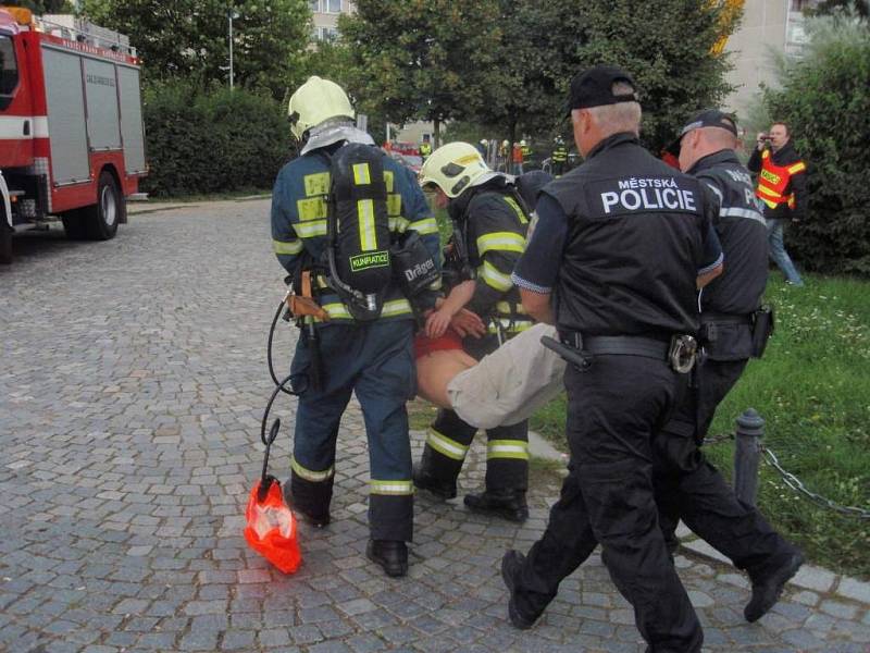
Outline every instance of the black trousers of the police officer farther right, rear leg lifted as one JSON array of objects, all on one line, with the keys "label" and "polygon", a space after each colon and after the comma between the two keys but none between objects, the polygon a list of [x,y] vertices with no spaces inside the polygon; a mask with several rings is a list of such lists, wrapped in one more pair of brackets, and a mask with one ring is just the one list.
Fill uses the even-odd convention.
[{"label": "black trousers of the police officer farther right, rear leg lifted", "polygon": [[707,360],[699,367],[695,392],[686,393],[654,440],[655,486],[666,539],[682,518],[735,567],[758,578],[795,550],[756,508],[737,500],[699,448],[716,407],[737,382],[746,362]]}]

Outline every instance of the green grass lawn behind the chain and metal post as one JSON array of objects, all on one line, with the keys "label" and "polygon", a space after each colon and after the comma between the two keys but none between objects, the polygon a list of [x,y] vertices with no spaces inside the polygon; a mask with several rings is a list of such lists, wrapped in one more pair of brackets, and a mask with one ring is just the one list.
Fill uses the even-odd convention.
[{"label": "green grass lawn behind the chain and metal post", "polygon": [[[767,421],[763,444],[805,485],[834,502],[870,510],[870,282],[805,276],[804,288],[771,273],[766,300],[776,332],[720,405],[711,434],[732,432],[755,408]],[[566,449],[564,399],[532,419],[532,429]],[[731,478],[734,445],[706,447]],[[870,578],[870,519],[821,508],[762,464],[758,505],[809,559]]]}]

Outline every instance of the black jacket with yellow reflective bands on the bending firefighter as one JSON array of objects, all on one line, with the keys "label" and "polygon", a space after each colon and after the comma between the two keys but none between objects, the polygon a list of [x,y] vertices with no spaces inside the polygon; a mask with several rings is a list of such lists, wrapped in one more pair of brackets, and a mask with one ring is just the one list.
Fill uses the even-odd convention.
[{"label": "black jacket with yellow reflective bands on the bending firefighter", "polygon": [[510,336],[525,331],[532,319],[510,275],[525,248],[529,217],[514,198],[513,186],[497,175],[453,199],[448,211],[463,232],[468,263],[476,274],[467,308],[488,323],[489,333]]}]

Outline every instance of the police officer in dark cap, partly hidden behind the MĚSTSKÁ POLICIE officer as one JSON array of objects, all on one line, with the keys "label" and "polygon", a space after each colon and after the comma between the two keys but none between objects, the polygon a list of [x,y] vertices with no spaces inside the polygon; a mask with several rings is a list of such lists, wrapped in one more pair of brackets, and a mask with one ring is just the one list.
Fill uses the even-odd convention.
[{"label": "police officer in dark cap, partly hidden behind the M\u011aSTSK\u00c1 POLICIE officer", "polygon": [[759,310],[768,275],[765,219],[755,202],[751,176],[734,152],[736,144],[734,120],[711,109],[689,121],[669,148],[679,155],[680,168],[719,198],[713,225],[725,266],[700,292],[699,338],[706,356],[695,371],[694,387],[656,438],[656,501],[669,546],[676,541],[674,529],[682,515],[697,534],[749,572],[753,600],[744,612],[755,621],[775,603],[803,557],[756,508],[735,498],[698,451],[717,406],[748,359],[760,355],[758,347],[768,335],[754,334],[769,323]]}]

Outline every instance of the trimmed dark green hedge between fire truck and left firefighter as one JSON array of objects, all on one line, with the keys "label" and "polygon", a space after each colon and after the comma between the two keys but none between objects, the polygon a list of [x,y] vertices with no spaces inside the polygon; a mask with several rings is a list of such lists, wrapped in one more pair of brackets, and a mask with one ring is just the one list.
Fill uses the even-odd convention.
[{"label": "trimmed dark green hedge between fire truck and left firefighter", "polygon": [[270,188],[288,159],[284,111],[270,97],[189,84],[157,84],[144,94],[153,196]]}]

